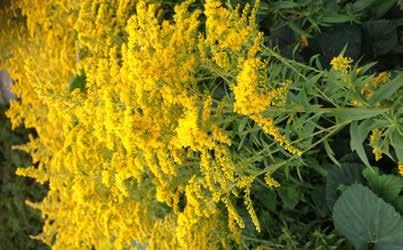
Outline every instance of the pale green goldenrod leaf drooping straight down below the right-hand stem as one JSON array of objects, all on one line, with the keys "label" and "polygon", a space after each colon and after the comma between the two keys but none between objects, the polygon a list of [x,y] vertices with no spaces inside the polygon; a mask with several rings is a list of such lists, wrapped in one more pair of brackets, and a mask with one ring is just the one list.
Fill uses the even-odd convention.
[{"label": "pale green goldenrod leaf drooping straight down below the right-hand stem", "polygon": [[350,125],[350,147],[352,151],[356,151],[360,159],[365,163],[366,166],[369,166],[369,161],[367,154],[364,150],[364,141],[369,133],[369,126],[371,124],[371,120],[365,120],[358,125],[357,121],[353,121]]}]

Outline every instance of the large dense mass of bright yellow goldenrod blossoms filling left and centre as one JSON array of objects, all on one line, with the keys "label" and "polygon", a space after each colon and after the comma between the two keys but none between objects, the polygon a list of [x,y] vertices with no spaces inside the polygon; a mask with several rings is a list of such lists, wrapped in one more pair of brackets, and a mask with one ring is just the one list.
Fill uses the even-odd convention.
[{"label": "large dense mass of bright yellow goldenrod blossoms filling left and centre", "polygon": [[[37,238],[54,249],[236,248],[245,227],[237,199],[260,231],[254,176],[234,160],[224,107],[301,154],[263,115],[285,104],[290,83],[273,88],[267,80],[258,1],[241,11],[207,0],[205,33],[202,8],[189,11],[193,1],[176,5],[171,19],[162,2],[13,3],[28,34],[4,61],[21,97],[8,115],[37,131],[22,147],[37,166],[18,173],[49,182],[32,206],[46,218]],[[228,80],[233,99],[200,89],[206,70]],[[84,90],[70,93],[80,72]]]}]

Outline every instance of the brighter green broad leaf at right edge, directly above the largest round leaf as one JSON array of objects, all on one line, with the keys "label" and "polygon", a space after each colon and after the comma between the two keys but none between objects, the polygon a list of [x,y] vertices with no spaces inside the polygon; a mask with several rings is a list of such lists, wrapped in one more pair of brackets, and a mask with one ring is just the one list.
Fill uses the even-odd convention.
[{"label": "brighter green broad leaf at right edge, directly above the largest round leaf", "polygon": [[368,186],[379,197],[395,205],[399,199],[399,193],[403,189],[403,178],[394,175],[381,175],[376,168],[366,168],[362,175],[367,179]]}]

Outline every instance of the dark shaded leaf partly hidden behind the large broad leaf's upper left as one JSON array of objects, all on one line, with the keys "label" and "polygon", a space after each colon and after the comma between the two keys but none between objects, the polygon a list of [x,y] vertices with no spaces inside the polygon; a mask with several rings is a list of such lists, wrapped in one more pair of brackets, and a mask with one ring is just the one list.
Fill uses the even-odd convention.
[{"label": "dark shaded leaf partly hidden behind the large broad leaf's upper left", "polygon": [[326,177],[326,202],[331,209],[337,200],[338,188],[341,185],[363,183],[361,172],[364,169],[362,164],[341,163],[341,167],[332,165]]}]

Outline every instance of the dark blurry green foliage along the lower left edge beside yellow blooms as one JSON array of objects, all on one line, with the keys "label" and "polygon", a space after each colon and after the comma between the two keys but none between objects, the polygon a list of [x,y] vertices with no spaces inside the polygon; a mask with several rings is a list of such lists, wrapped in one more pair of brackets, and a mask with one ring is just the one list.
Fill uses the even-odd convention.
[{"label": "dark blurry green foliage along the lower left edge beside yellow blooms", "polygon": [[28,207],[25,200],[38,201],[45,189],[33,180],[15,175],[20,166],[28,166],[30,157],[15,151],[13,145],[27,140],[27,131],[11,131],[10,123],[4,115],[5,107],[0,106],[0,249],[47,249],[29,235],[41,230],[41,218],[37,210]]}]

